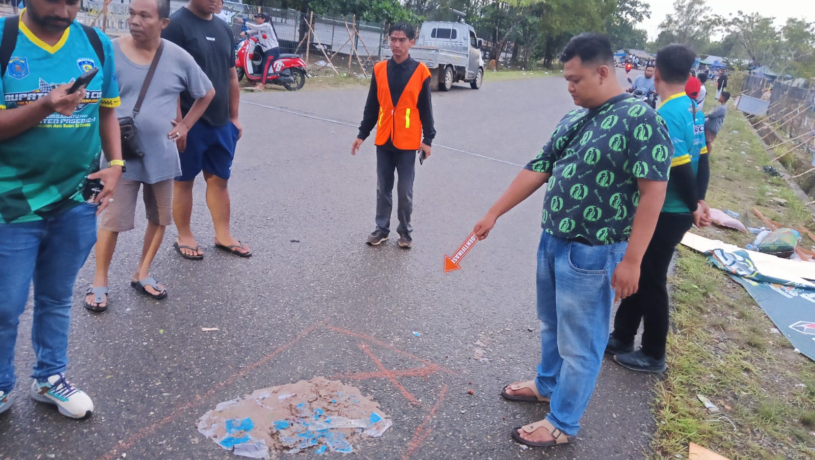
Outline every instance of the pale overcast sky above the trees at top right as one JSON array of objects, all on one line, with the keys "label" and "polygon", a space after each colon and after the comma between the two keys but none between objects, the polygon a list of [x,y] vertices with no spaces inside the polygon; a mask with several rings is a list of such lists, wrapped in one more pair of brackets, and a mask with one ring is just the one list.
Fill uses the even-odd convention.
[{"label": "pale overcast sky above the trees at top right", "polygon": [[[643,21],[641,28],[648,32],[650,40],[654,40],[659,34],[659,23],[665,19],[665,15],[673,12],[673,1],[645,1],[651,4],[651,18]],[[805,4],[808,4],[808,7],[804,7]],[[757,12],[763,16],[774,16],[777,25],[784,24],[788,17],[803,17],[806,20],[815,21],[815,7],[805,0],[798,2],[794,0],[707,0],[707,6],[714,14],[725,17],[739,10],[745,13]]]}]

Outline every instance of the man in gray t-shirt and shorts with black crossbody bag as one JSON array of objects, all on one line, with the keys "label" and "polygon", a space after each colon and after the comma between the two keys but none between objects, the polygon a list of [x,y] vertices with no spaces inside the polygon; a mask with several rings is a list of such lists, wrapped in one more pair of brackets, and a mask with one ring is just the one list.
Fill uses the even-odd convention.
[{"label": "man in gray t-shirt and shorts with black crossbody bag", "polygon": [[[108,209],[102,213],[96,243],[96,276],[88,291],[85,307],[104,311],[108,307],[108,267],[119,232],[134,228],[139,188],[143,187],[148,228],[144,249],[130,285],[153,299],[164,299],[167,291],[149,275],[167,225],[172,223],[174,178],[181,174],[176,143],[204,113],[215,90],[192,56],[173,42],[161,38],[170,22],[168,2],[133,0],[130,3],[130,36],[113,41],[121,106],[117,117],[134,117],[138,142],[144,153],[127,158],[127,170],[113,192]],[[161,55],[138,114],[133,113],[148,69],[157,52]],[[178,117],[178,96],[187,91],[195,103],[186,117]]]}]

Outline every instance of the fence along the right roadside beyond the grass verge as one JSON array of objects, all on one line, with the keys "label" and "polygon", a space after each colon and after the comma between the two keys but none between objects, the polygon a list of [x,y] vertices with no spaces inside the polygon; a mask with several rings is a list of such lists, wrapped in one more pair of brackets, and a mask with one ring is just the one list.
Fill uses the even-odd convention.
[{"label": "fence along the right roadside beyond the grass verge", "polygon": [[773,147],[801,149],[815,162],[815,87],[812,80],[798,78],[786,82],[747,75],[742,95],[767,100],[769,133]]}]

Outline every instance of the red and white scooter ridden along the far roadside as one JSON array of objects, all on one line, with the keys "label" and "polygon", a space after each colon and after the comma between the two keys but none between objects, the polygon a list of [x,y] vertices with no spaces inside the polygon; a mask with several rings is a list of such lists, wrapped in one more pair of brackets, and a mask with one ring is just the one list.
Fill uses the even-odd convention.
[{"label": "red and white scooter ridden along the far roadside", "polygon": [[[263,73],[262,62],[263,51],[258,44],[258,39],[244,38],[240,42],[235,60],[238,81],[246,77],[249,82],[260,82]],[[289,91],[299,90],[306,84],[306,61],[302,60],[302,55],[280,55],[269,66],[266,82],[270,85],[282,85]]]}]

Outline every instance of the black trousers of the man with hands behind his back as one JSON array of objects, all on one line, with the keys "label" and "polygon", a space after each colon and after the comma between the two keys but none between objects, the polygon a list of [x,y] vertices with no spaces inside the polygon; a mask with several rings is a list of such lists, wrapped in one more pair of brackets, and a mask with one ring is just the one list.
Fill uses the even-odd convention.
[{"label": "black trousers of the man with hands behind his back", "polygon": [[645,250],[637,294],[623,299],[614,319],[614,338],[632,343],[643,323],[642,352],[654,359],[665,356],[668,328],[667,268],[676,245],[693,225],[689,213],[659,214],[654,237]]}]

